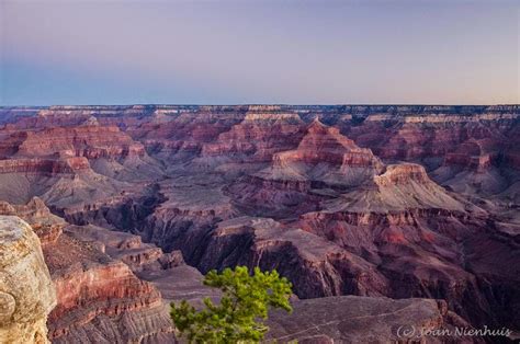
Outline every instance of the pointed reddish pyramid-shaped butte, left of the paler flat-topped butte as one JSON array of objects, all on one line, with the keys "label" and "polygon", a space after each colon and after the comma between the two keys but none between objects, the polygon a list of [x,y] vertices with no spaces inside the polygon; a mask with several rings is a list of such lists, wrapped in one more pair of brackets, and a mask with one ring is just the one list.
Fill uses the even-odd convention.
[{"label": "pointed reddish pyramid-shaped butte, left of the paler flat-topped butte", "polygon": [[271,164],[234,183],[228,190],[240,202],[269,207],[301,204],[296,214],[318,208],[321,200],[309,193],[324,186],[351,187],[370,181],[382,168],[370,149],[362,149],[338,129],[314,121],[293,150],[278,152]]}]

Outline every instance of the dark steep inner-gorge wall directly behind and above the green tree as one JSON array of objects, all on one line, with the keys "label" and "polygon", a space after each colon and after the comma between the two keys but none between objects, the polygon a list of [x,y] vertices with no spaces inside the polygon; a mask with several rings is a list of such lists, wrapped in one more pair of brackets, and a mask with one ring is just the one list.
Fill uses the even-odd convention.
[{"label": "dark steep inner-gorge wall directly behind and above the green tree", "polygon": [[[178,249],[203,273],[246,265],[276,270],[302,298],[341,294],[385,293],[386,280],[375,266],[339,246],[297,228],[267,218],[239,217],[213,230],[178,234]],[[192,248],[197,245],[197,250]]]}]

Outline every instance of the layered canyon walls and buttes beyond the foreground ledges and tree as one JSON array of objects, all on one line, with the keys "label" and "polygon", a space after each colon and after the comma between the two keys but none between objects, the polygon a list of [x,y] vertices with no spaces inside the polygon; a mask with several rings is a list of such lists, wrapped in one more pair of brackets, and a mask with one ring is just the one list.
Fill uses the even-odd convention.
[{"label": "layered canyon walls and buttes beyond the foreground ledges and tree", "polygon": [[[176,282],[159,261],[176,265],[172,252],[181,250],[203,272],[279,268],[302,297],[444,299],[474,325],[518,324],[518,105],[0,112],[9,117],[0,129],[5,165],[59,165],[10,167],[0,174],[0,198],[21,204],[39,196],[68,221],[98,228],[65,236],[99,250],[112,240],[93,234],[100,227],[161,246],[172,256],[139,248],[147,243],[105,245],[104,254],[168,299],[181,294],[167,287]],[[113,133],[121,145],[97,131]],[[139,145],[145,151],[126,153]],[[90,168],[61,168],[70,158]],[[191,278],[186,272],[179,275]],[[197,290],[194,283],[177,286],[183,297]]]}]

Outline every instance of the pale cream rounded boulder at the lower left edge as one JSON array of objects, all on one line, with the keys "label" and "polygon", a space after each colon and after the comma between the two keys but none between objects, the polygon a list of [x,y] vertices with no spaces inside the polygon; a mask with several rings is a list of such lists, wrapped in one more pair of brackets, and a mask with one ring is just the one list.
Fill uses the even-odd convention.
[{"label": "pale cream rounded boulder at the lower left edge", "polygon": [[0,343],[48,343],[56,291],[39,240],[15,216],[0,216]]}]

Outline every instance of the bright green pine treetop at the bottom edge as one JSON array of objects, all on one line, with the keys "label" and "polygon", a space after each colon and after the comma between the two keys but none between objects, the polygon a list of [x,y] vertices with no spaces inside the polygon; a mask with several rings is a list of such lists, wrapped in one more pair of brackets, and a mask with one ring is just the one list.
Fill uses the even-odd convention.
[{"label": "bright green pine treetop at the bottom edge", "polygon": [[276,271],[256,267],[252,275],[245,266],[221,274],[211,271],[204,285],[223,291],[221,303],[205,298],[205,308],[199,311],[185,300],[171,303],[171,319],[190,343],[256,343],[269,330],[264,320],[270,308],[292,311],[291,283]]}]

